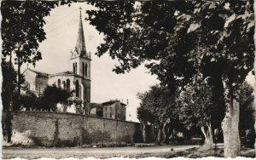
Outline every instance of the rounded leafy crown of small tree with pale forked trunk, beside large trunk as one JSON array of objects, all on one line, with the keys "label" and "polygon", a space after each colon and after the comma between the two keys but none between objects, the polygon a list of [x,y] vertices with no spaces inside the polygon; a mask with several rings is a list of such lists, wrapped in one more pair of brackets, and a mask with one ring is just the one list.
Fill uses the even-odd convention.
[{"label": "rounded leafy crown of small tree with pale forked trunk, beside large trunk", "polygon": [[215,110],[212,89],[207,82],[195,83],[183,91],[177,101],[180,104],[179,118],[188,129],[212,124],[212,114]]}]

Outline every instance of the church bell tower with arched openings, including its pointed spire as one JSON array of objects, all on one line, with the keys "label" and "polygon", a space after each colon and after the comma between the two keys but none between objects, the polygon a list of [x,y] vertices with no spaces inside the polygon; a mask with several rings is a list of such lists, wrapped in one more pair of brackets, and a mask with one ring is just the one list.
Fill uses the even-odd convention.
[{"label": "church bell tower with arched openings, including its pointed spire", "polygon": [[[79,30],[77,35],[77,43],[75,48],[71,51],[71,68],[77,77],[77,80],[73,82],[76,86],[76,90],[79,90],[81,94],[79,97],[84,102],[90,103],[90,52],[88,53],[85,48],[84,29],[82,22],[82,14],[80,8],[79,16]],[[81,95],[81,96],[80,96]]]}]

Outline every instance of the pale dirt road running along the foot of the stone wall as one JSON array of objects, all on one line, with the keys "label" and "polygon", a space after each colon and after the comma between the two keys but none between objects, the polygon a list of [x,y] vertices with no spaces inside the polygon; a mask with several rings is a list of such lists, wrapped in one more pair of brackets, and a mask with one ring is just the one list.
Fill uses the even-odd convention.
[{"label": "pale dirt road running along the foot of the stone wall", "polygon": [[182,151],[196,146],[147,146],[147,147],[108,147],[108,148],[3,148],[3,159],[21,157],[154,157],[174,151]]}]

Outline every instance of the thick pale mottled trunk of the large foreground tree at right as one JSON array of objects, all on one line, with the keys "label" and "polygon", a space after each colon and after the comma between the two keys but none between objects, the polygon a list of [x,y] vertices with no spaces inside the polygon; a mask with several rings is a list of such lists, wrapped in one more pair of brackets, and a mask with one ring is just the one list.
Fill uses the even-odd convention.
[{"label": "thick pale mottled trunk of the large foreground tree at right", "polygon": [[226,86],[224,94],[226,112],[222,122],[222,130],[224,134],[224,157],[240,156],[241,144],[238,129],[239,103],[234,99],[233,94],[232,86]]}]

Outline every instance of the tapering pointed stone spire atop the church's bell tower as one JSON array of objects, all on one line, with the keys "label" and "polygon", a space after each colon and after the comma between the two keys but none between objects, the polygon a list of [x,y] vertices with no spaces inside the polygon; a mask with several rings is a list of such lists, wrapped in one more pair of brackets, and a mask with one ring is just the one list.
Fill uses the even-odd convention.
[{"label": "tapering pointed stone spire atop the church's bell tower", "polygon": [[80,9],[80,17],[79,17],[79,31],[78,31],[78,37],[77,37],[77,43],[75,51],[79,56],[83,57],[86,56],[86,49],[85,49],[85,41],[84,41],[84,29],[83,29],[83,23],[82,23],[82,14],[81,14],[81,7]]}]

